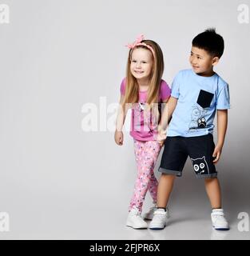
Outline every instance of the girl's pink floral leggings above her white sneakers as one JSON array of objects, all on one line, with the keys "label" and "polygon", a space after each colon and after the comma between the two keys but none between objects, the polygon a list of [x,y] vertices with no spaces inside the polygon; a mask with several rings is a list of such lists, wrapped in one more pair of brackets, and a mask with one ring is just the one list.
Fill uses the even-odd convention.
[{"label": "girl's pink floral leggings above her white sneakers", "polygon": [[130,201],[129,210],[136,208],[140,212],[145,195],[149,190],[153,202],[157,202],[157,178],[154,176],[161,145],[157,141],[140,142],[134,139],[134,152],[137,162],[137,180],[135,182],[133,196]]}]

